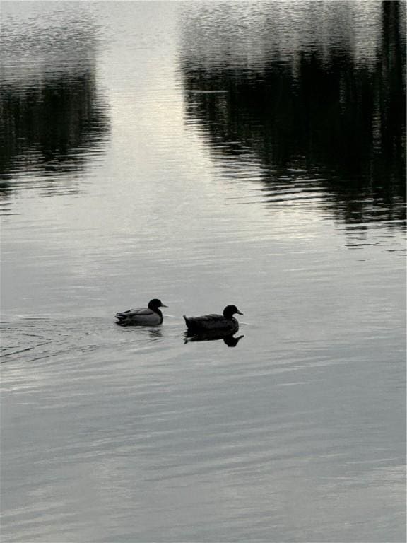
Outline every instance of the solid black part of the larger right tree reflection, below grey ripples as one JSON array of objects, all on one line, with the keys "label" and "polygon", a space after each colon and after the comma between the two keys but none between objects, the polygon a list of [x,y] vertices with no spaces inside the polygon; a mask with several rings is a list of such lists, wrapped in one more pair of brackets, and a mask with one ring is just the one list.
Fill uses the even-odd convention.
[{"label": "solid black part of the larger right tree reflection, below grey ripples", "polygon": [[[273,9],[271,4],[271,10]],[[346,221],[406,218],[405,51],[399,2],[382,3],[382,39],[373,62],[352,47],[301,50],[293,62],[276,52],[259,66],[182,57],[186,115],[203,124],[216,156],[259,159],[269,188],[302,168]],[[225,93],[191,92],[227,91]],[[232,143],[230,143],[232,142]]]}]

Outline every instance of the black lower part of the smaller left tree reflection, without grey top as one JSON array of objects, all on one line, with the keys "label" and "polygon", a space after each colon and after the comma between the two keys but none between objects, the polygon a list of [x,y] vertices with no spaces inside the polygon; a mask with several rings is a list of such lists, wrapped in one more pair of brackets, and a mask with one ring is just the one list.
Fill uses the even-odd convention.
[{"label": "black lower part of the smaller left tree reflection, without grey top", "polygon": [[2,88],[0,169],[21,166],[72,173],[102,143],[107,119],[95,98],[92,74],[61,74],[17,92]]}]

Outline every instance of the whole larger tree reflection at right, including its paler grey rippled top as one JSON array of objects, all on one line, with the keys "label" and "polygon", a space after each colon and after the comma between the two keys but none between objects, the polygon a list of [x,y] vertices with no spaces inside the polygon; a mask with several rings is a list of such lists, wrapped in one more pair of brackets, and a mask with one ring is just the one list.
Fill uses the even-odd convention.
[{"label": "whole larger tree reflection at right, including its paler grey rippled top", "polygon": [[[276,4],[254,7],[256,18],[242,9],[242,21],[220,5],[216,13],[206,4],[187,11],[179,57],[187,129],[201,134],[224,177],[259,184],[270,209],[316,204],[343,223],[403,228],[401,4],[369,4],[365,20],[367,12],[353,13],[358,8],[348,3],[332,12]],[[315,28],[336,28],[342,14],[346,29],[312,40],[291,9],[311,14],[306,22]],[[275,32],[278,23],[284,35]]]}]

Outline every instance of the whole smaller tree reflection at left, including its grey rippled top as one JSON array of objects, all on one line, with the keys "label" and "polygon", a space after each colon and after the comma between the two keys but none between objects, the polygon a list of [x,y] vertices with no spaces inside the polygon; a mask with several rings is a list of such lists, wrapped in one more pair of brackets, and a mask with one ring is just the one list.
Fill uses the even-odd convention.
[{"label": "whole smaller tree reflection at left, including its grey rippled top", "polygon": [[95,28],[73,19],[64,32],[51,25],[25,34],[6,20],[0,41],[0,191],[30,181],[28,173],[49,193],[78,185],[109,131],[95,76]]}]

